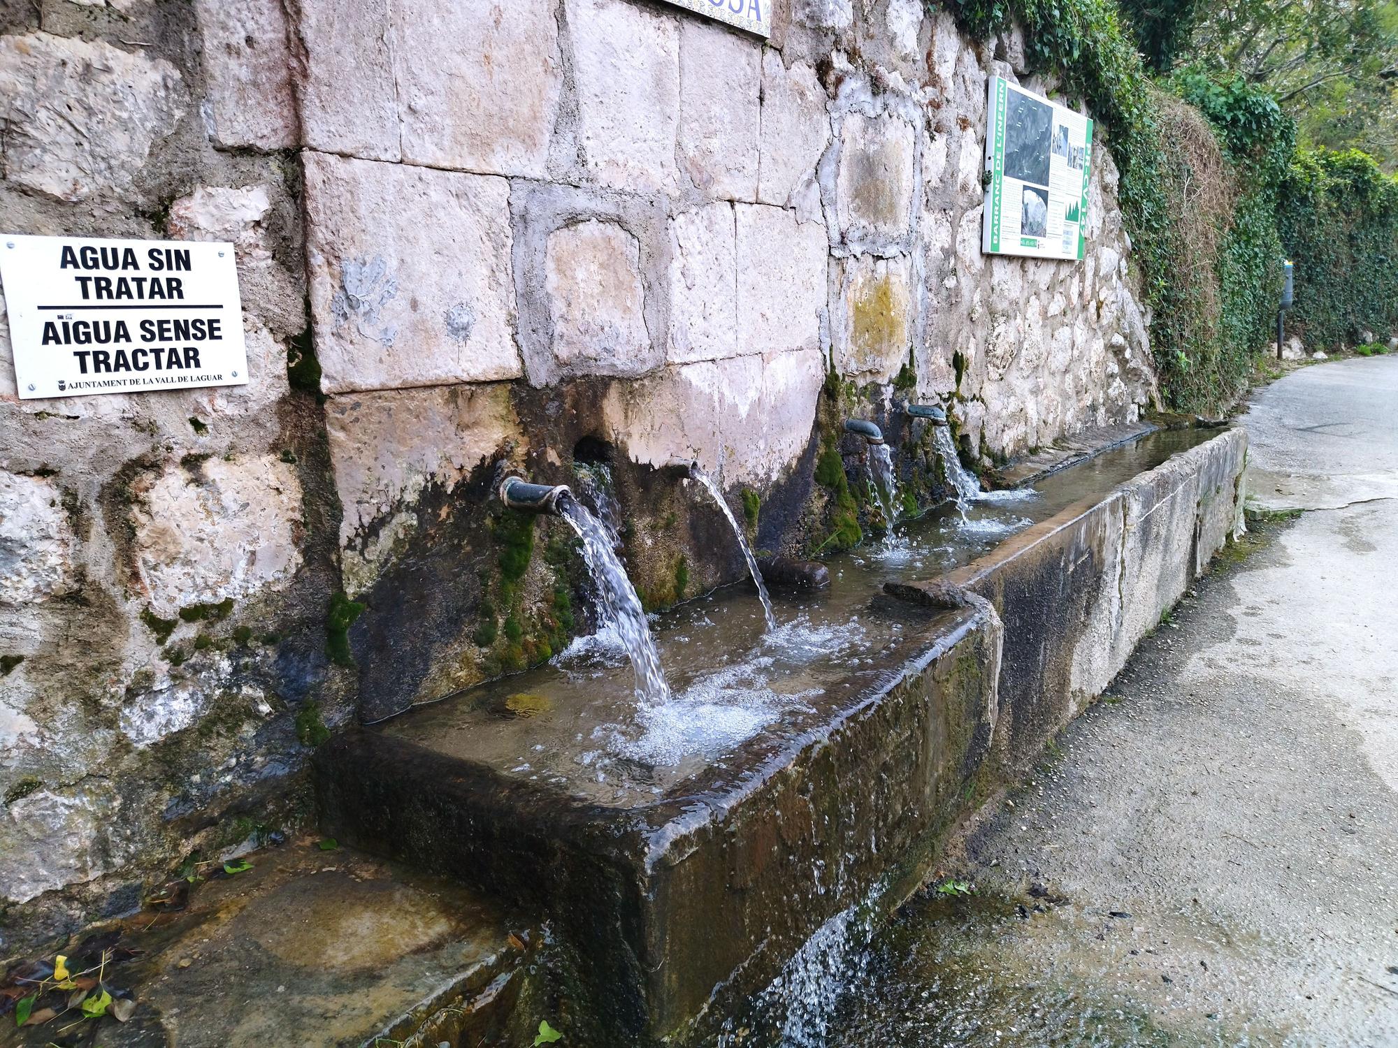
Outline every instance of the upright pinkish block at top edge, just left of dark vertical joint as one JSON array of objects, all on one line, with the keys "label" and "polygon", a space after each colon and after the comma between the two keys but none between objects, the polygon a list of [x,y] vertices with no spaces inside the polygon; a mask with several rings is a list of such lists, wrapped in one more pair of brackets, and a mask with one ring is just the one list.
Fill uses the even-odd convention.
[{"label": "upright pinkish block at top edge, just left of dark vertical joint", "polygon": [[204,43],[210,138],[229,148],[271,151],[298,145],[281,0],[197,0],[196,11]]}]

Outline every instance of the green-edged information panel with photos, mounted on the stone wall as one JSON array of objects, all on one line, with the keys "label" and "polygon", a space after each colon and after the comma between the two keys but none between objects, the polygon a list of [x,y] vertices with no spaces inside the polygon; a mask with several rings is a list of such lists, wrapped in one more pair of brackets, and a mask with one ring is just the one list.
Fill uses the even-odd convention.
[{"label": "green-edged information panel with photos, mounted on the stone wall", "polygon": [[990,78],[987,112],[981,250],[1082,259],[1092,120],[1001,77]]}]

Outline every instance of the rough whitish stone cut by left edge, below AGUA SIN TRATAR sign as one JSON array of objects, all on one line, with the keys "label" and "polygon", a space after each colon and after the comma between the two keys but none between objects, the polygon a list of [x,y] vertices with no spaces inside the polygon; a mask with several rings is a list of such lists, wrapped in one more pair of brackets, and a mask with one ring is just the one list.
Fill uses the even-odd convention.
[{"label": "rough whitish stone cut by left edge, below AGUA SIN TRATAR sign", "polygon": [[0,470],[0,606],[69,592],[75,552],[59,486]]}]

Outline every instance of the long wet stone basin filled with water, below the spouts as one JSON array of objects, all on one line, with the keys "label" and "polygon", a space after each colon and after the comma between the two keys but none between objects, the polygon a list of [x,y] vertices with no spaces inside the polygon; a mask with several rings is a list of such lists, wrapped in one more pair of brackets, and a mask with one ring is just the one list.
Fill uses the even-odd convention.
[{"label": "long wet stone basin filled with water, below the spouts", "polygon": [[[327,830],[547,914],[584,998],[570,1042],[710,1044],[822,925],[906,897],[945,830],[1102,692],[1237,527],[1244,447],[1158,433],[970,528],[918,521],[779,599],[786,639],[737,587],[664,616],[691,703],[670,749],[605,658],[345,734],[316,762]],[[735,713],[747,734],[705,731]]]}]

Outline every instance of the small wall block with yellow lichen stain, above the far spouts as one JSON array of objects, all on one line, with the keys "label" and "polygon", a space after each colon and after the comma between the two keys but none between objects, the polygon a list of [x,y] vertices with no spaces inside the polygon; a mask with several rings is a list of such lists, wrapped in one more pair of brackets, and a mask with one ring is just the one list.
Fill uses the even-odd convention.
[{"label": "small wall block with yellow lichen stain, above the far spouts", "polygon": [[840,293],[840,374],[889,381],[907,363],[913,342],[911,260],[856,256],[844,263]]}]

